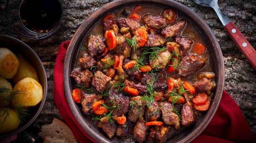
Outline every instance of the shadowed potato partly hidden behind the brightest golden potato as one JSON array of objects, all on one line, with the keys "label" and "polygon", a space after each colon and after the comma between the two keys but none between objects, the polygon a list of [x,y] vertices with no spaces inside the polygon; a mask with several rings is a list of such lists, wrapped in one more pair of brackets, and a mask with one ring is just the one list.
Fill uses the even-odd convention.
[{"label": "shadowed potato partly hidden behind the brightest golden potato", "polygon": [[12,78],[14,84],[17,84],[20,80],[31,77],[39,82],[35,68],[32,66],[30,62],[28,62],[23,56],[20,54],[16,55],[19,60],[19,68],[17,73]]}]

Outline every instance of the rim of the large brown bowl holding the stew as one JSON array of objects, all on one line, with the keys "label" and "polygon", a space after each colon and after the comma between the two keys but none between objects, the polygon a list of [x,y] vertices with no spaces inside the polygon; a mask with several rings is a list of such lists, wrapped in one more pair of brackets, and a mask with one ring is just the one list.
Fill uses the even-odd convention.
[{"label": "rim of the large brown bowl holding the stew", "polygon": [[[82,35],[82,37],[84,37],[86,35],[86,33],[90,30],[90,28],[88,28],[88,27],[93,25],[91,23],[97,22],[106,13],[108,13],[114,9],[124,7],[126,5],[135,5],[135,4],[156,4],[156,5],[160,5],[163,7],[170,7],[170,8],[175,7],[176,10],[182,9],[182,10],[178,10],[178,12],[183,11],[183,13],[181,13],[181,12],[180,13],[183,14],[189,20],[194,20],[193,24],[196,24],[197,27],[202,28],[201,31],[206,33],[208,35],[208,37],[207,37],[208,40],[210,40],[211,43],[213,43],[213,45],[212,45],[214,48],[213,52],[214,52],[214,54],[216,56],[216,60],[218,62],[217,67],[215,67],[216,72],[217,72],[216,74],[219,75],[216,78],[217,87],[215,89],[215,94],[214,94],[215,96],[213,97],[214,101],[216,101],[216,102],[211,103],[210,109],[207,111],[206,115],[204,116],[204,118],[208,118],[208,120],[204,120],[202,122],[202,124],[198,126],[197,129],[192,131],[192,133],[190,133],[186,137],[181,138],[180,140],[177,141],[177,142],[190,142],[194,138],[196,138],[196,136],[198,136],[200,133],[203,132],[203,129],[205,129],[206,126],[209,124],[209,122],[213,118],[213,116],[219,106],[219,103],[220,103],[220,100],[222,97],[222,93],[223,93],[223,89],[224,89],[224,61],[223,61],[223,55],[221,52],[220,45],[217,41],[217,38],[213,34],[213,32],[212,32],[211,28],[208,26],[208,24],[206,24],[205,21],[192,9],[188,8],[187,6],[185,6],[179,2],[173,1],[173,0],[142,0],[142,1],[117,0],[117,1],[112,1],[112,2],[107,3],[106,5],[102,6],[101,8],[96,10],[94,13],[92,13],[88,18],[86,18],[84,20],[84,22],[78,27],[74,36],[72,37],[69,47],[67,49],[67,54],[65,55],[65,59],[64,59],[64,66],[63,66],[63,81],[64,82],[63,82],[63,84],[64,84],[64,90],[65,90],[65,96],[66,96],[67,102],[69,103],[69,107],[70,107],[73,115],[75,117],[82,117],[80,111],[78,112],[77,108],[72,108],[73,106],[75,106],[75,102],[71,96],[71,93],[72,93],[71,77],[70,77],[71,64],[69,64],[72,62],[71,57],[74,56],[74,53],[72,53],[72,52],[80,46],[81,40],[83,40],[81,38],[79,39],[79,36]],[[113,8],[114,6],[116,6],[116,7]],[[104,12],[104,11],[107,11],[107,12]],[[186,14],[184,14],[184,13],[186,13]],[[214,108],[214,107],[216,107],[216,108]],[[83,128],[83,130],[97,142],[108,142],[108,143],[110,142],[107,139],[105,139],[104,137],[100,136],[100,133],[97,133],[97,132],[95,133],[92,130],[93,127],[86,124],[84,119],[76,118],[76,121]]]}]

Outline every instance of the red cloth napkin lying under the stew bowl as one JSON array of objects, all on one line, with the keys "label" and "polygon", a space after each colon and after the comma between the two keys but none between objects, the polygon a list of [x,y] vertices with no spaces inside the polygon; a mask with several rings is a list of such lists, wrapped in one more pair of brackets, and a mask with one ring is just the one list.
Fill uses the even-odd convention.
[{"label": "red cloth napkin lying under the stew bowl", "polygon": [[[93,140],[75,120],[64,95],[63,63],[70,41],[63,42],[58,50],[54,66],[53,97],[65,122],[81,143],[93,143]],[[254,136],[239,106],[233,98],[223,91],[222,99],[213,119],[204,131],[192,143],[255,143]]]}]

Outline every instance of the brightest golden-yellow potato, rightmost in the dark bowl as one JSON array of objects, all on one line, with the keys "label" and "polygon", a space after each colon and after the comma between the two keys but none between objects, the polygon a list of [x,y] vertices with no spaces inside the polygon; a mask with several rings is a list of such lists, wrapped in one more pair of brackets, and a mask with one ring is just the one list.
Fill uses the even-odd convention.
[{"label": "brightest golden-yellow potato, rightmost in the dark bowl", "polygon": [[28,108],[38,104],[43,98],[43,88],[36,80],[27,77],[19,81],[13,88],[13,92],[20,91],[11,103],[14,106]]}]

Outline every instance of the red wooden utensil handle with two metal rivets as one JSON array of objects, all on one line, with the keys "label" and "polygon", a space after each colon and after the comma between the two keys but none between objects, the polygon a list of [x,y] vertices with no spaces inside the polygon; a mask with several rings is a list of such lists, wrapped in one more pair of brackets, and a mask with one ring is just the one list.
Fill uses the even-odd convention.
[{"label": "red wooden utensil handle with two metal rivets", "polygon": [[224,28],[227,31],[228,35],[231,37],[231,39],[235,42],[237,47],[240,49],[240,51],[243,53],[245,58],[249,61],[249,63],[256,71],[256,51],[253,49],[251,44],[245,39],[243,34],[232,22],[226,24]]}]

